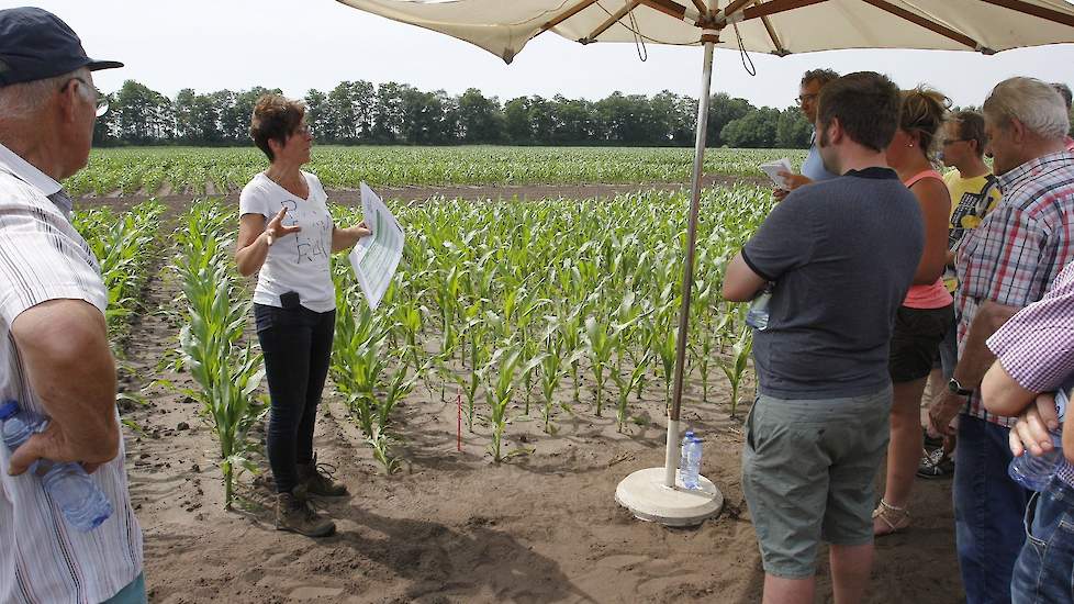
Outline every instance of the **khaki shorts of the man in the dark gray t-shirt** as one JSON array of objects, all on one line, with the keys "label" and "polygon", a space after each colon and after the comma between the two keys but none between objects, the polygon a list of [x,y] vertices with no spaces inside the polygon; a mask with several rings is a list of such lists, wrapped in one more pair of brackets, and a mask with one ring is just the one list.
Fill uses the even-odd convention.
[{"label": "khaki shorts of the man in the dark gray t-shirt", "polygon": [[769,574],[812,577],[817,546],[873,540],[873,479],[892,389],[864,396],[758,396],[746,421],[742,491]]}]

